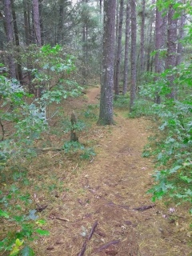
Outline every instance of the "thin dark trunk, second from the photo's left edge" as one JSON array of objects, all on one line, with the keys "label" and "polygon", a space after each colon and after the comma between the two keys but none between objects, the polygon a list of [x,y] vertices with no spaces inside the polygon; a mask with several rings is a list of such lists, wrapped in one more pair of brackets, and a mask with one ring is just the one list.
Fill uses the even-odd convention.
[{"label": "thin dark trunk, second from the photo's left edge", "polygon": [[22,60],[20,58],[20,43],[19,43],[19,37],[18,37],[18,23],[17,23],[17,17],[15,12],[15,6],[14,6],[14,0],[10,0],[11,4],[11,10],[12,10],[12,16],[14,19],[14,38],[15,38],[15,45],[17,46],[17,75],[16,77],[22,84]]}]

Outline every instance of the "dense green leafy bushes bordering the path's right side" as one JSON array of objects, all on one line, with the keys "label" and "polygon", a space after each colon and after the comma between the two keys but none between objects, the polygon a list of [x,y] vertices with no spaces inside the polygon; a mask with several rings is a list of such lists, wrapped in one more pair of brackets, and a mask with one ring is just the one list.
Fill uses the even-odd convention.
[{"label": "dense green leafy bushes bordering the path's right side", "polygon": [[[148,115],[158,124],[158,136],[150,140],[142,154],[143,157],[152,155],[156,159],[155,185],[149,190],[153,194],[153,200],[166,196],[177,203],[191,204],[191,63],[178,66],[172,73],[175,74],[174,90],[178,94],[178,99],[173,101],[166,98],[170,92],[166,80],[170,70],[165,70],[157,82],[141,86],[140,98],[134,106],[134,115]],[[153,102],[157,94],[161,96],[161,104]]]}]

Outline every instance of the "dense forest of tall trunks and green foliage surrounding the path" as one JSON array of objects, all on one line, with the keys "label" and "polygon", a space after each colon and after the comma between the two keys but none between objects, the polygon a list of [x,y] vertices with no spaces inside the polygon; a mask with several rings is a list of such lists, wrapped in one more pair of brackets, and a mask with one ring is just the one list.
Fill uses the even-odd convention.
[{"label": "dense forest of tall trunks and green foliage surrounding the path", "polygon": [[[151,118],[157,134],[143,152],[154,157],[157,169],[150,193],[153,200],[166,196],[190,210],[191,15],[190,0],[0,2],[2,184],[13,162],[19,166],[35,158],[37,140],[49,134],[61,114],[59,104],[101,83],[98,124],[114,124],[115,102],[125,104],[130,118]],[[57,106],[54,111],[52,106]],[[66,122],[62,129],[83,130],[83,125]],[[71,147],[79,144],[64,149]],[[83,157],[93,154],[88,150]],[[14,216],[13,194],[30,200],[14,182],[1,194],[0,216],[23,226],[19,235],[7,235],[0,243],[1,250],[14,255],[22,239],[30,237],[25,223],[35,214]],[[48,234],[41,228],[36,232]]]}]

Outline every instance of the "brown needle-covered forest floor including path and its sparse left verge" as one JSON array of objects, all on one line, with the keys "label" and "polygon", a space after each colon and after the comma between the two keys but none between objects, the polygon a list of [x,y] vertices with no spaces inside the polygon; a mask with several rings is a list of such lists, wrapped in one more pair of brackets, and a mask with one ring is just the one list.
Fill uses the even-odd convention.
[{"label": "brown needle-covered forest floor including path and its sparse left verge", "polygon": [[[81,98],[67,100],[63,109],[78,113],[98,104],[98,94],[99,88],[91,87]],[[96,152],[88,161],[48,150],[30,162],[30,194],[50,230],[50,236],[33,244],[38,256],[192,255],[185,207],[153,203],[146,194],[154,163],[142,158],[142,150],[153,133],[152,123],[126,117],[127,110],[115,109],[115,126],[95,121],[79,134],[79,141]],[[51,135],[51,146],[62,139]]]}]

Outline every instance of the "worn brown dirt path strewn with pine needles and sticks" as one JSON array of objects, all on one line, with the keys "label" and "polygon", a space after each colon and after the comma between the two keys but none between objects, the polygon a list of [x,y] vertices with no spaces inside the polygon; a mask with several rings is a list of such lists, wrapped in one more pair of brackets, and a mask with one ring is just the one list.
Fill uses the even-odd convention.
[{"label": "worn brown dirt path strewn with pine needles and sticks", "polygon": [[[99,88],[89,90],[87,103],[97,102],[98,94]],[[73,166],[73,180],[66,175],[64,185],[70,192],[62,194],[58,208],[52,210],[52,215],[59,214],[62,220],[53,219],[50,224],[57,236],[46,240],[44,255],[192,255],[185,220],[168,218],[169,209],[161,202],[153,206],[146,194],[153,164],[141,154],[150,135],[150,122],[126,119],[118,111],[115,121],[116,126],[95,126],[91,140],[96,157],[86,165]],[[95,222],[98,224],[89,241]],[[85,254],[80,254],[83,245]]]}]

